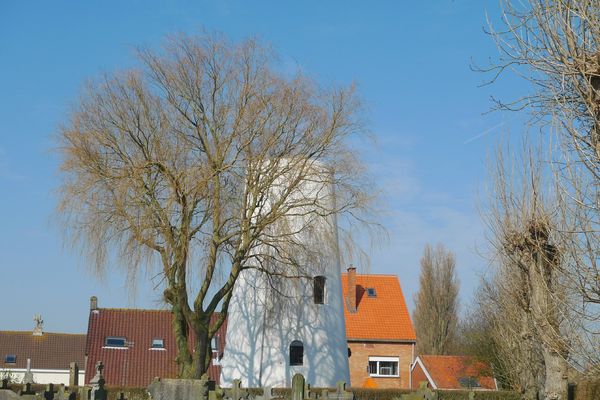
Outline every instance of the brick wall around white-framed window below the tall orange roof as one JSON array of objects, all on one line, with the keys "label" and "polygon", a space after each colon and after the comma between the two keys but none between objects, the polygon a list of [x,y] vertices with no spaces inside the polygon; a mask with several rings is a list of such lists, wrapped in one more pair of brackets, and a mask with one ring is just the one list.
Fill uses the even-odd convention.
[{"label": "brick wall around white-framed window below the tall orange roof", "polygon": [[[350,385],[359,387],[409,389],[412,344],[410,343],[362,343],[348,342],[352,355],[350,364]],[[399,377],[371,377],[369,375],[369,356],[398,357]]]}]

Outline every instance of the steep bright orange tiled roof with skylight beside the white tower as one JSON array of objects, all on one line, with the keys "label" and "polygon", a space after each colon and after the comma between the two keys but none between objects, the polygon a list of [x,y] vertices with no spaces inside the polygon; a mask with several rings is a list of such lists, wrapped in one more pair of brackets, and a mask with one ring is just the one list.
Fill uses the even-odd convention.
[{"label": "steep bright orange tiled roof with skylight beside the white tower", "polygon": [[[374,288],[376,297],[369,297],[367,288]],[[342,293],[348,340],[416,341],[398,277],[356,274],[355,313],[348,311],[345,301],[347,290],[348,274],[344,273]]]}]

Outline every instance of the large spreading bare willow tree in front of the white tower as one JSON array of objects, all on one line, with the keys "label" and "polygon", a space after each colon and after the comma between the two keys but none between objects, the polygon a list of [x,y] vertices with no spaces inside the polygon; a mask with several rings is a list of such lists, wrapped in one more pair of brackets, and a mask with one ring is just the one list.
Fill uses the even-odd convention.
[{"label": "large spreading bare willow tree in front of the white tower", "polygon": [[373,192],[346,145],[359,103],[352,87],[283,76],[253,40],[180,36],[138,56],[90,84],[60,130],[59,212],[99,271],[113,254],[133,277],[160,266],[179,375],[198,378],[243,270],[301,277],[337,243],[319,221],[341,220],[341,235],[364,222]]}]

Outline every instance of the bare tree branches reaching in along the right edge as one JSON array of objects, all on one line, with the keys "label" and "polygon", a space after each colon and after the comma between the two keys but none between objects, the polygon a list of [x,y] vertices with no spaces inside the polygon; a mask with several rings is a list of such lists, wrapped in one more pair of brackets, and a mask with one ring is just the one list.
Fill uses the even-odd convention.
[{"label": "bare tree branches reaching in along the right edge", "polygon": [[561,262],[571,323],[580,335],[572,360],[600,370],[600,3],[595,0],[503,0],[503,21],[491,35],[500,58],[494,78],[515,72],[530,85],[504,110],[526,109],[558,140],[551,162]]}]

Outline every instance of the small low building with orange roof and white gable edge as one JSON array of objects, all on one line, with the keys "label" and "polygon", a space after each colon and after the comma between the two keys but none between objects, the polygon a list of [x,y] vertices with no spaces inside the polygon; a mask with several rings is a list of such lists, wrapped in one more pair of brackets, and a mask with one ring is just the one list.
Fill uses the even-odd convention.
[{"label": "small low building with orange roof and white gable edge", "polygon": [[413,389],[425,381],[432,389],[498,390],[490,365],[469,356],[418,356],[411,376]]}]

